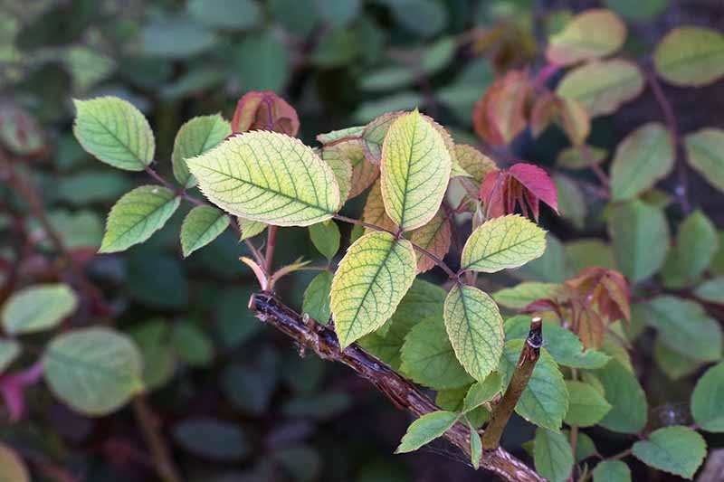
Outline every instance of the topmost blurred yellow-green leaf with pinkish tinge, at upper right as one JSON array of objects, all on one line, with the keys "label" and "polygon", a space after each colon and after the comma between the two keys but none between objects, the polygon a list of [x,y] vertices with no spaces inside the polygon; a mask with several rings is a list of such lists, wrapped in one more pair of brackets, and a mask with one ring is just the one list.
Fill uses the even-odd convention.
[{"label": "topmost blurred yellow-green leaf with pinkish tinge, at upper right", "polygon": [[546,56],[557,65],[598,59],[621,48],[626,25],[610,10],[594,9],[577,14],[550,39]]}]

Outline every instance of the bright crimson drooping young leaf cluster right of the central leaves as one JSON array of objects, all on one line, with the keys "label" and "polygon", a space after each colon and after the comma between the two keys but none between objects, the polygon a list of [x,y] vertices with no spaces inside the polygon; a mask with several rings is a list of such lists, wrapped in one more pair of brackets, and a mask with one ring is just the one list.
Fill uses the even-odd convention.
[{"label": "bright crimson drooping young leaf cluster right of the central leaves", "polygon": [[519,163],[488,173],[482,180],[480,195],[488,219],[513,213],[519,205],[524,214],[530,210],[538,221],[540,201],[558,212],[556,184],[537,165]]}]

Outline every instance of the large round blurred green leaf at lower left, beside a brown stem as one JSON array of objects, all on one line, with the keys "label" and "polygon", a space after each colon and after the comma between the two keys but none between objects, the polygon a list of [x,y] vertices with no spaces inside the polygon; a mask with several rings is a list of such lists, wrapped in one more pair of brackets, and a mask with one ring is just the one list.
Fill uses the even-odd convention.
[{"label": "large round blurred green leaf at lower left, beside a brown stem", "polygon": [[143,389],[143,361],[127,337],[109,328],[83,328],[52,339],[43,354],[45,380],[62,402],[100,416]]}]

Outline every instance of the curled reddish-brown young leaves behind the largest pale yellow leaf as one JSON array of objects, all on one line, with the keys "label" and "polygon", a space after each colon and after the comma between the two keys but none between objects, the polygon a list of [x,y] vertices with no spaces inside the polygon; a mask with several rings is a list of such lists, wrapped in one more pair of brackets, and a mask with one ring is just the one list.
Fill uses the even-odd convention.
[{"label": "curled reddish-brown young leaves behind the largest pale yellow leaf", "polygon": [[300,118],[286,100],[271,90],[252,91],[239,99],[232,118],[234,134],[247,130],[272,130],[296,137]]}]

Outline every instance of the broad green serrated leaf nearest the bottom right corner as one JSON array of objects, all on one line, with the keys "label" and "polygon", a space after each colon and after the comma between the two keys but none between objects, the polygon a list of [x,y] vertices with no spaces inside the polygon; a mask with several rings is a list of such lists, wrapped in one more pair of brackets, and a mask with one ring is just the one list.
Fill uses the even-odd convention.
[{"label": "broad green serrated leaf nearest the bottom right corner", "polygon": [[633,457],[648,466],[691,478],[707,455],[707,443],[694,430],[673,426],[653,431],[647,439],[634,443],[632,451]]}]

